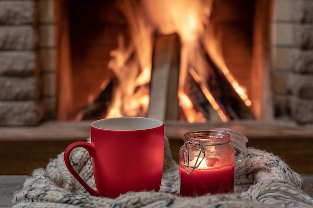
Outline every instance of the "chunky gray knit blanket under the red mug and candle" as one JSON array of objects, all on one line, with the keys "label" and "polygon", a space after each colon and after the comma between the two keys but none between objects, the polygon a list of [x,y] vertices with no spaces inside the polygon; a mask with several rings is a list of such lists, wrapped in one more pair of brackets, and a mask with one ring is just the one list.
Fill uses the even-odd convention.
[{"label": "chunky gray knit blanket under the red mug and candle", "polygon": [[[90,142],[90,138],[88,139]],[[71,153],[72,165],[95,188],[92,160],[83,148]],[[234,194],[179,196],[179,167],[165,137],[159,192],[129,192],[116,199],[91,196],[67,170],[63,153],[46,169],[33,171],[14,194],[13,208],[313,208],[300,175],[279,157],[254,148],[235,166]]]}]

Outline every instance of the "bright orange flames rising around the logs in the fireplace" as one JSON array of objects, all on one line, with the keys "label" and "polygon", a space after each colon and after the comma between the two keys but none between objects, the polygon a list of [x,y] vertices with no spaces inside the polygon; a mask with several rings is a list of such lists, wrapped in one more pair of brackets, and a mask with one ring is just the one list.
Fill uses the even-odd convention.
[{"label": "bright orange flames rising around the logs in the fireplace", "polygon": [[181,61],[177,96],[188,122],[205,122],[190,97],[185,93],[186,76],[191,74],[205,97],[217,111],[221,120],[229,120],[211,95],[207,80],[208,64],[201,53],[204,46],[216,65],[233,85],[247,106],[251,105],[245,90],[231,76],[218,53],[217,43],[203,40],[205,25],[209,22],[213,0],[120,0],[119,7],[130,25],[132,43],[126,46],[123,36],[118,37],[118,48],[111,51],[109,68],[114,71],[118,85],[106,118],[121,116],[146,116],[149,106],[153,38],[160,34],[178,33],[181,38]]}]

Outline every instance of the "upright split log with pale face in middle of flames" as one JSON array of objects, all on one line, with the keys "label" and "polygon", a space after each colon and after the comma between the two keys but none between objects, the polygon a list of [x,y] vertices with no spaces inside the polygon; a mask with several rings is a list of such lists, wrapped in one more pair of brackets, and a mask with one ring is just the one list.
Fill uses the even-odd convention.
[{"label": "upright split log with pale face in middle of flames", "polygon": [[179,36],[172,34],[157,37],[152,59],[148,117],[178,120]]}]

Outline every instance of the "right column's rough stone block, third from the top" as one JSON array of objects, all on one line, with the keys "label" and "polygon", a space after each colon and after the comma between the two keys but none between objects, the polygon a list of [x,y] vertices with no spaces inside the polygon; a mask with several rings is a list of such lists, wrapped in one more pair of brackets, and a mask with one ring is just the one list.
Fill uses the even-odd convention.
[{"label": "right column's rough stone block, third from the top", "polygon": [[294,72],[313,73],[313,50],[293,49],[290,53],[290,66]]}]

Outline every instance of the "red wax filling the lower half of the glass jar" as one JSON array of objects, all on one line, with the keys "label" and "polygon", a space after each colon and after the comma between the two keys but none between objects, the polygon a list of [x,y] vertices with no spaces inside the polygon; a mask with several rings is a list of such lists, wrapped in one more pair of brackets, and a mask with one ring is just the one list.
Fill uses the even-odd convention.
[{"label": "red wax filling the lower half of the glass jar", "polygon": [[200,196],[207,193],[229,193],[234,186],[234,165],[212,169],[194,169],[186,173],[180,166],[180,195]]}]

